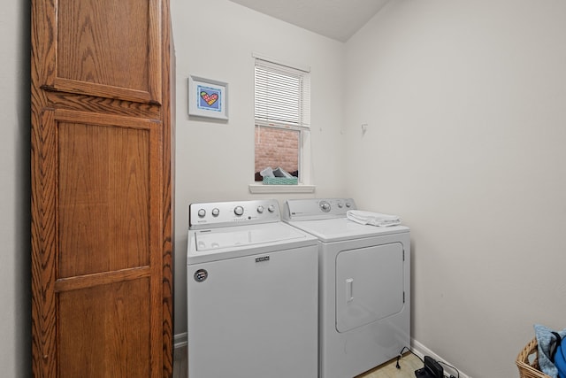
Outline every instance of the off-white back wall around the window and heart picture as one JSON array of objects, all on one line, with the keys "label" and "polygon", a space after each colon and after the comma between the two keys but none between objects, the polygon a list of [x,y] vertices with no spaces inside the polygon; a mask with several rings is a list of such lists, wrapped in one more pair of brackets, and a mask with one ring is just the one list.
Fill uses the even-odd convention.
[{"label": "off-white back wall around the window and heart picture", "polygon": [[[188,204],[260,197],[254,177],[252,52],[311,68],[311,124],[317,196],[345,196],[342,135],[344,45],[226,0],[174,0],[177,56],[175,334],[187,330]],[[229,84],[229,121],[188,117],[187,78]],[[314,196],[314,195],[310,195]],[[297,195],[261,195],[282,201]],[[302,195],[301,197],[305,197]]]}]

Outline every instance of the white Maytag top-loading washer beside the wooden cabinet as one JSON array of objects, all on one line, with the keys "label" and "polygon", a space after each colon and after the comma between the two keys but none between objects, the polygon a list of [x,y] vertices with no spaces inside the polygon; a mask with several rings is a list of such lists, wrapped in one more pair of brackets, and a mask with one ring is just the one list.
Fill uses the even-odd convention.
[{"label": "white Maytag top-loading washer beside the wooden cabinet", "polygon": [[317,238],[277,200],[190,204],[188,376],[317,377]]}]

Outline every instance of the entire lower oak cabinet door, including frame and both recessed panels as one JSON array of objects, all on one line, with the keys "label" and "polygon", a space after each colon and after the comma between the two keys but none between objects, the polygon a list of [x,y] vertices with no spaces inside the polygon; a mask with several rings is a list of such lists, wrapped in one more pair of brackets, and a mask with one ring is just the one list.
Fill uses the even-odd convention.
[{"label": "entire lower oak cabinet door, including frame and both recessed panels", "polygon": [[[157,375],[162,359],[152,355],[162,349],[164,316],[161,123],[50,110],[43,113],[39,134],[49,137],[37,147],[44,161],[37,180],[44,183],[45,214],[57,220],[47,223],[53,229],[46,233],[56,237],[43,239],[42,247],[54,252],[41,255],[42,265],[36,266],[42,275],[35,285],[44,293],[36,297],[44,300],[37,304],[44,309],[43,362],[48,370],[57,369],[57,376],[149,376],[75,374],[80,366],[105,371],[103,359],[112,355],[114,365],[123,368],[133,369],[136,359],[145,364],[135,362],[139,368],[155,364],[150,367]],[[140,336],[129,335],[131,327],[139,328]],[[106,334],[109,328],[114,331]],[[77,345],[73,337],[85,344]],[[122,343],[136,350],[136,359],[126,351],[111,352]]]}]

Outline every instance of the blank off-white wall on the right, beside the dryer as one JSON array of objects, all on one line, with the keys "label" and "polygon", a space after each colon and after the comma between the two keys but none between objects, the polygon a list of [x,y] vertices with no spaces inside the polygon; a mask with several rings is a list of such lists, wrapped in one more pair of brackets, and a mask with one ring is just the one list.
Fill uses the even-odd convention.
[{"label": "blank off-white wall on the right, beside the dryer", "polygon": [[348,191],[412,229],[412,336],[470,376],[566,327],[565,14],[396,0],[347,43]]}]

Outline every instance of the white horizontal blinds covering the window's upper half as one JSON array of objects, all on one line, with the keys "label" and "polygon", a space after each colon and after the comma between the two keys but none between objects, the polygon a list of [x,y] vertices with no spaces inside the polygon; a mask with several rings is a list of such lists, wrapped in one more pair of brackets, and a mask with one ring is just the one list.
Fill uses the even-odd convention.
[{"label": "white horizontal blinds covering the window's upper half", "polygon": [[310,73],[256,58],[256,125],[310,127]]}]

